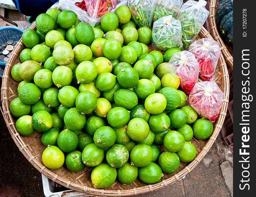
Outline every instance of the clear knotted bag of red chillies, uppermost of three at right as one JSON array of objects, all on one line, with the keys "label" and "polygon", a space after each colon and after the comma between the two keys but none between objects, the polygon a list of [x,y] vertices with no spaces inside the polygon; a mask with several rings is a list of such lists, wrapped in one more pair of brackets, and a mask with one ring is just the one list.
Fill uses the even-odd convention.
[{"label": "clear knotted bag of red chillies, uppermost of three at right", "polygon": [[196,40],[189,46],[199,63],[199,77],[210,81],[214,75],[217,62],[221,53],[218,42],[211,38]]}]

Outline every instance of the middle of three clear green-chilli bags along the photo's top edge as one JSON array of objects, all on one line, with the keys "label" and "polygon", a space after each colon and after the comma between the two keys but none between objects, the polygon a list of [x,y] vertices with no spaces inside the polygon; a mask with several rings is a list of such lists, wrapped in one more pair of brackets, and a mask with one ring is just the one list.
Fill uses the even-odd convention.
[{"label": "middle of three clear green-chilli bags along the photo's top edge", "polygon": [[169,15],[177,19],[180,15],[181,6],[182,0],[157,0],[153,14],[153,22],[163,16]]}]

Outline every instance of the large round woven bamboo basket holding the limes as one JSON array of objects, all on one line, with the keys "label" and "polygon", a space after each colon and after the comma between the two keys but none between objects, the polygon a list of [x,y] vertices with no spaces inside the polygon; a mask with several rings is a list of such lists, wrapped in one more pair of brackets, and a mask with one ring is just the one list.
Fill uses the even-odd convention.
[{"label": "large round woven bamboo basket holding the limes", "polygon": [[[32,25],[30,29],[36,29],[35,25]],[[211,38],[209,32],[204,28],[201,29],[198,38]],[[16,119],[12,117],[12,114],[9,109],[10,102],[18,97],[17,86],[18,82],[14,81],[11,77],[12,66],[18,63],[19,54],[24,49],[22,40],[19,40],[14,50],[11,52],[11,55],[6,64],[2,87],[1,87],[1,112],[6,122],[6,126],[10,131],[13,141],[16,143],[19,151],[27,158],[27,160],[42,174],[51,179],[52,181],[65,186],[69,189],[77,190],[83,193],[89,193],[93,195],[100,196],[133,196],[137,194],[144,194],[152,192],[163,187],[166,187],[172,183],[175,183],[187,175],[191,170],[193,170],[203,159],[203,157],[209,152],[211,146],[215,142],[222,124],[224,122],[227,106],[228,106],[228,97],[229,97],[229,78],[228,71],[226,67],[225,60],[223,55],[220,55],[217,69],[215,72],[215,80],[221,90],[224,93],[224,102],[221,107],[221,111],[214,125],[214,131],[211,137],[208,140],[197,140],[193,138],[191,142],[195,145],[197,149],[196,158],[190,163],[181,162],[178,170],[174,174],[165,174],[160,182],[152,185],[144,184],[136,179],[130,185],[122,185],[119,181],[105,189],[95,189],[91,183],[90,175],[92,167],[86,166],[80,172],[71,172],[64,165],[56,170],[47,169],[42,163],[42,152],[45,149],[45,146],[41,142],[41,132],[35,132],[31,136],[21,136],[16,128],[15,121]],[[150,46],[150,50],[153,48]],[[161,151],[164,150],[164,147],[161,146]]]}]

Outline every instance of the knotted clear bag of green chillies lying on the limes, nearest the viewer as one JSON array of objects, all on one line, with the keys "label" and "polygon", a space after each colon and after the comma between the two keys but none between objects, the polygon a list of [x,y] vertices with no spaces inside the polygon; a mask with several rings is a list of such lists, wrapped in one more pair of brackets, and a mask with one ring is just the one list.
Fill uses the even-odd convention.
[{"label": "knotted clear bag of green chillies lying on the limes, nearest the viewer", "polygon": [[170,16],[164,16],[153,23],[152,45],[166,51],[171,48],[181,48],[180,21]]}]

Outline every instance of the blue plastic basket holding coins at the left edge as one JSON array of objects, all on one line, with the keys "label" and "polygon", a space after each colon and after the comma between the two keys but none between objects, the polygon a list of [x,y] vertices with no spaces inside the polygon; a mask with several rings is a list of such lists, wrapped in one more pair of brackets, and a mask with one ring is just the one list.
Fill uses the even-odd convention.
[{"label": "blue plastic basket holding coins at the left edge", "polygon": [[[6,26],[0,28],[0,45],[7,40],[19,41],[23,33],[23,30],[18,27]],[[5,66],[6,62],[0,60],[0,66]]]}]

